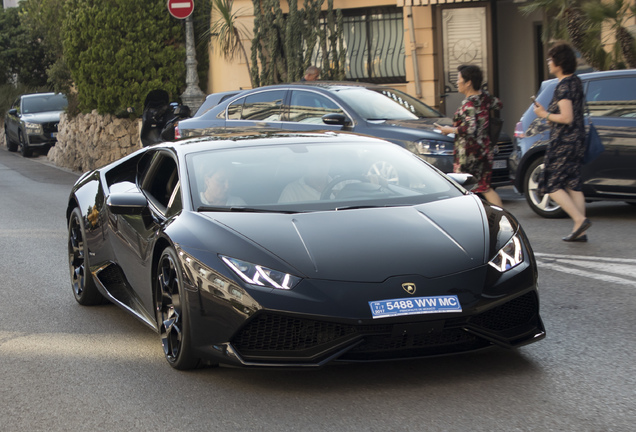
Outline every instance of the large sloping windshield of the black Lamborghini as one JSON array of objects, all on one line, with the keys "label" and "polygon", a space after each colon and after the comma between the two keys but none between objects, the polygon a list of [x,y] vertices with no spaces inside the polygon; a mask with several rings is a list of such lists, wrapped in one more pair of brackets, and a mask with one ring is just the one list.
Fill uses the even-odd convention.
[{"label": "large sloping windshield of the black Lamborghini", "polygon": [[194,209],[309,212],[414,205],[463,191],[394,144],[242,147],[187,156]]}]

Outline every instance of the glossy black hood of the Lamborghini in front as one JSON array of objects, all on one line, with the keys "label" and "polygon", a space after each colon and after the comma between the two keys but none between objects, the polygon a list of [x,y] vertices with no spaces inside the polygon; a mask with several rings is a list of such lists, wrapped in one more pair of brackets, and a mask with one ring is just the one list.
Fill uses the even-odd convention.
[{"label": "glossy black hood of the Lamborghini in front", "polygon": [[205,217],[318,279],[435,278],[483,265],[487,249],[483,207],[472,195],[407,207]]}]

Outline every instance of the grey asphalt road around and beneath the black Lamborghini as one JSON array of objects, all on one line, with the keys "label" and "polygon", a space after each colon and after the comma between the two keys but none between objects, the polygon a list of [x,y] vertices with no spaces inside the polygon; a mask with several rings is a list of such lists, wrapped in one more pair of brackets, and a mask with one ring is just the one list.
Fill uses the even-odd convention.
[{"label": "grey asphalt road around and beneath the black Lamborghini", "polygon": [[312,371],[178,372],[158,336],[71,293],[64,210],[77,174],[0,149],[0,430],[636,430],[636,206],[567,219],[504,206],[539,259],[548,336],[517,351]]}]

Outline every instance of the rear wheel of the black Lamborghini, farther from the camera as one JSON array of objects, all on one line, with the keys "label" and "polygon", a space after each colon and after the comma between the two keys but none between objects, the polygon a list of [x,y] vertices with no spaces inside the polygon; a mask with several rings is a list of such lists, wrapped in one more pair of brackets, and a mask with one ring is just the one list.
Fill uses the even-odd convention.
[{"label": "rear wheel of the black Lamborghini, farther from the camera", "polygon": [[68,222],[68,255],[71,288],[75,300],[83,306],[106,303],[106,299],[97,289],[90,272],[84,218],[78,208],[73,209]]}]

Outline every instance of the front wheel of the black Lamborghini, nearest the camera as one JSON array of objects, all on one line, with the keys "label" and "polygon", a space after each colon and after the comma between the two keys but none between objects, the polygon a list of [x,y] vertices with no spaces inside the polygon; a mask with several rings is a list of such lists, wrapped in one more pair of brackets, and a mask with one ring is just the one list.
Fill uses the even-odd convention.
[{"label": "front wheel of the black Lamborghini, nearest the camera", "polygon": [[161,253],[156,274],[155,309],[164,355],[175,369],[194,369],[200,359],[192,350],[188,305],[179,259],[171,247]]}]

